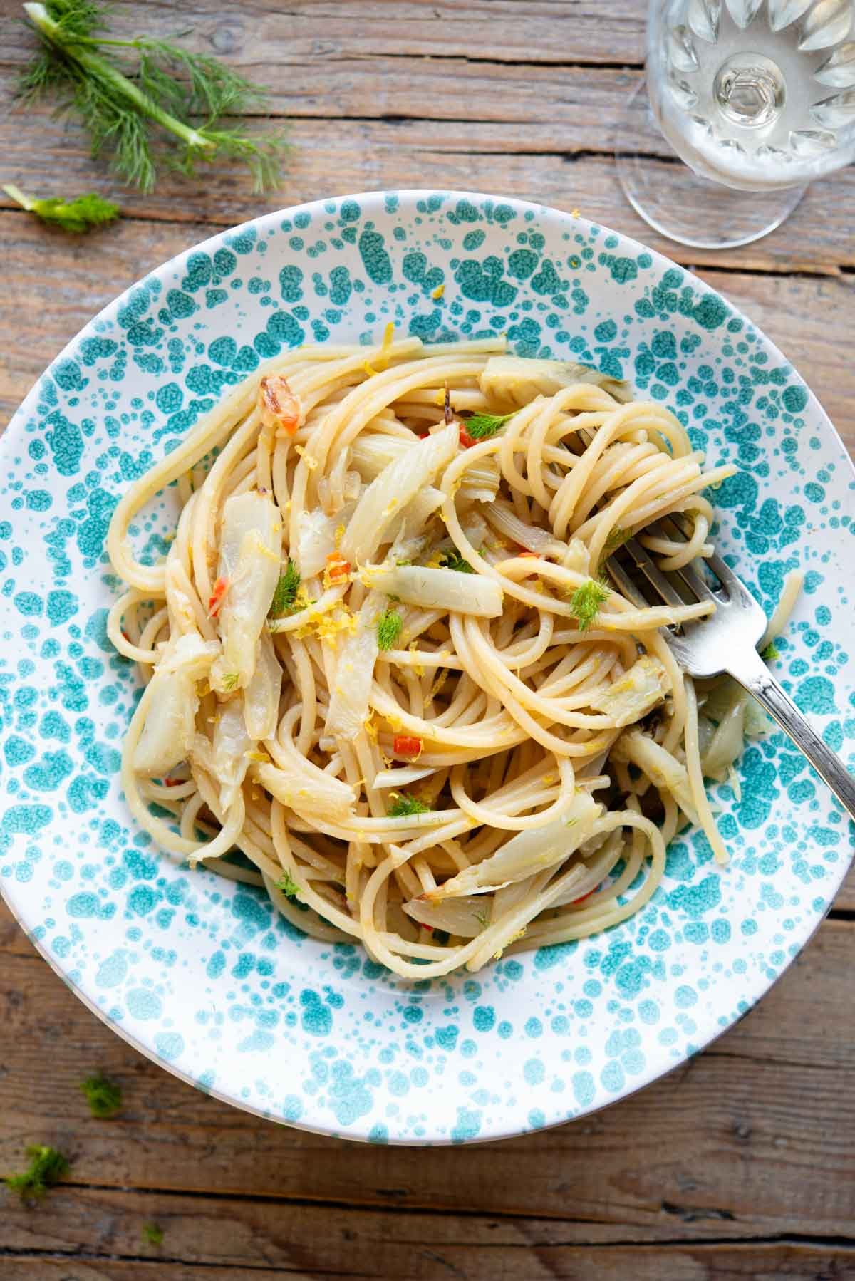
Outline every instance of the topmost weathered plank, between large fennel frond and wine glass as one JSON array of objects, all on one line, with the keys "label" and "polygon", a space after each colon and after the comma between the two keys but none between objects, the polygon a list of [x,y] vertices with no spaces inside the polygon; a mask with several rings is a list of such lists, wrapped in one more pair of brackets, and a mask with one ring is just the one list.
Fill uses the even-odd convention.
[{"label": "topmost weathered plank, between large fennel frond and wine glass", "polygon": [[[117,35],[135,33],[138,6],[115,8]],[[318,8],[326,10],[320,28]],[[483,0],[474,9],[463,3],[445,9],[415,4],[409,8],[420,12],[422,23],[413,41],[406,8],[373,4],[354,12],[345,3],[327,9],[304,0],[283,15],[261,5],[223,12],[213,3],[182,4],[181,14],[194,28],[197,49],[227,56],[269,87],[274,117],[478,119],[514,129],[541,126],[554,131],[552,137],[569,124],[568,150],[599,150],[604,128],[617,123],[623,108],[624,96],[615,88],[626,94],[641,78],[642,24],[637,10],[627,20],[633,8],[627,4],[620,6],[624,20],[618,13],[608,26],[595,13],[585,14],[582,23],[585,10],[569,3],[518,6],[505,0],[495,13]],[[19,9],[4,0],[4,12],[12,17]],[[573,42],[560,38],[572,23],[579,37],[597,31],[599,53],[574,58]],[[146,6],[145,26],[151,35],[174,35],[173,6]],[[515,56],[492,56],[506,37]],[[35,44],[26,24],[10,23],[1,54],[10,88]],[[599,65],[604,54],[610,65]],[[585,74],[570,76],[570,68]],[[590,115],[595,105],[606,114]]]}]

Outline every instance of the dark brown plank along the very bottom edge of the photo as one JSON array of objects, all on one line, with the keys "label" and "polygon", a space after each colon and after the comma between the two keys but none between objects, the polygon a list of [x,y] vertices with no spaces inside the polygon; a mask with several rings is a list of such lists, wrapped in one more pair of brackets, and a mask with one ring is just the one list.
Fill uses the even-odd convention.
[{"label": "dark brown plank along the very bottom edge of the photo", "polygon": [[[217,1269],[214,1276],[220,1268],[228,1268],[222,1273],[228,1276],[263,1268],[277,1276],[376,1276],[396,1281],[431,1281],[449,1273],[473,1281],[485,1276],[495,1281],[587,1281],[592,1273],[641,1281],[701,1281],[726,1275],[815,1278],[845,1277],[847,1267],[855,1268],[855,1243],[836,1248],[784,1241],[682,1243],[627,1249],[620,1226],[572,1220],[283,1207],[251,1199],[204,1200],[127,1190],[59,1187],[41,1212],[8,1202],[3,1220],[4,1277],[10,1261],[23,1262],[29,1255],[27,1262],[33,1267],[53,1268],[59,1259],[41,1255],[60,1255],[77,1278],[79,1263],[74,1255],[79,1253],[94,1268],[113,1268],[117,1263],[127,1268],[150,1261],[141,1275],[151,1276],[153,1267],[159,1267],[158,1275],[168,1278],[195,1276],[194,1271],[183,1271],[194,1267],[204,1267],[205,1276],[209,1268]],[[163,1230],[160,1246],[145,1240],[146,1222]],[[135,1273],[119,1272],[126,1275]]]}]

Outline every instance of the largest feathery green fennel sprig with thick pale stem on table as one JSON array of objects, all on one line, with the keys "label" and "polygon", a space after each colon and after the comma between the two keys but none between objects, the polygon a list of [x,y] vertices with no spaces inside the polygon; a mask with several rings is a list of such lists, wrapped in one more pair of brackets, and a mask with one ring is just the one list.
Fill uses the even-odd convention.
[{"label": "largest feathery green fennel sprig with thick pale stem on table", "polygon": [[[23,8],[42,47],[21,77],[19,100],[55,96],[59,111],[79,117],[92,155],[108,152],[123,182],[151,191],[155,147],[165,142],[164,161],[185,174],[194,174],[200,161],[227,158],[249,167],[256,191],[278,183],[281,133],[251,138],[218,127],[224,115],[263,104],[265,88],[169,40],[109,37],[109,10],[99,0],[46,0]],[[204,124],[192,124],[194,117],[204,117]]]}]

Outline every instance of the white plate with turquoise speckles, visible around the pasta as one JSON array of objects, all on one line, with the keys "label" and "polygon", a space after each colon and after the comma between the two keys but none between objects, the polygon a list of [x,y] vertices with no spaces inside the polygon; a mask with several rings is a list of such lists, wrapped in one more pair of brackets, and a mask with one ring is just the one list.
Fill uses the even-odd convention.
[{"label": "white plate with turquoise speckles, visible around the pasta", "polygon": [[[724,871],[683,833],[618,929],[411,985],[133,829],[118,770],[137,685],[104,630],[119,494],[259,360],[377,339],[390,319],[427,342],[506,333],[523,355],[629,378],[711,462],[737,461],[714,496],[722,546],[767,612],[787,570],[806,571],[776,670],[850,769],[855,483],[781,352],[688,272],[581,218],[461,193],[331,200],[217,236],[106,307],[15,415],[0,446],[13,910],[92,1009],[201,1089],[354,1139],[461,1143],[581,1116],[700,1049],[809,938],[852,835],[773,734],[745,752],[741,799],[715,789]],[[140,523],[151,557],[164,532],[158,512]]]}]

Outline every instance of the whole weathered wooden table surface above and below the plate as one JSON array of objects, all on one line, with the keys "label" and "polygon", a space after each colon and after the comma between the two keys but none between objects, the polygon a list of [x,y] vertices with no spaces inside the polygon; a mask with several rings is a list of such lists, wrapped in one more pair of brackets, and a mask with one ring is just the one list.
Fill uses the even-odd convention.
[{"label": "whole weathered wooden table surface above and below the plate", "polygon": [[[659,240],[624,204],[611,135],[641,77],[643,5],[610,0],[150,0],[117,5],[273,86],[294,154],[279,193],[226,172],[123,191],[46,109],[0,123],[3,181],[97,187],[124,219],[69,238],[0,202],[0,414],[120,290],[220,227],[323,195],[464,187],[579,208],[692,266],[783,348],[855,446],[855,170],[732,252]],[[10,96],[32,41],[6,18]],[[663,161],[663,165],[665,161]],[[855,1277],[855,876],[761,1006],[641,1094],[490,1146],[390,1149],[288,1130],[141,1058],[0,912],[0,1170],[73,1158],[42,1209],[0,1193],[4,1281],[292,1277]],[[78,1082],[119,1081],[114,1121]],[[163,1244],[142,1225],[156,1222]]]}]

